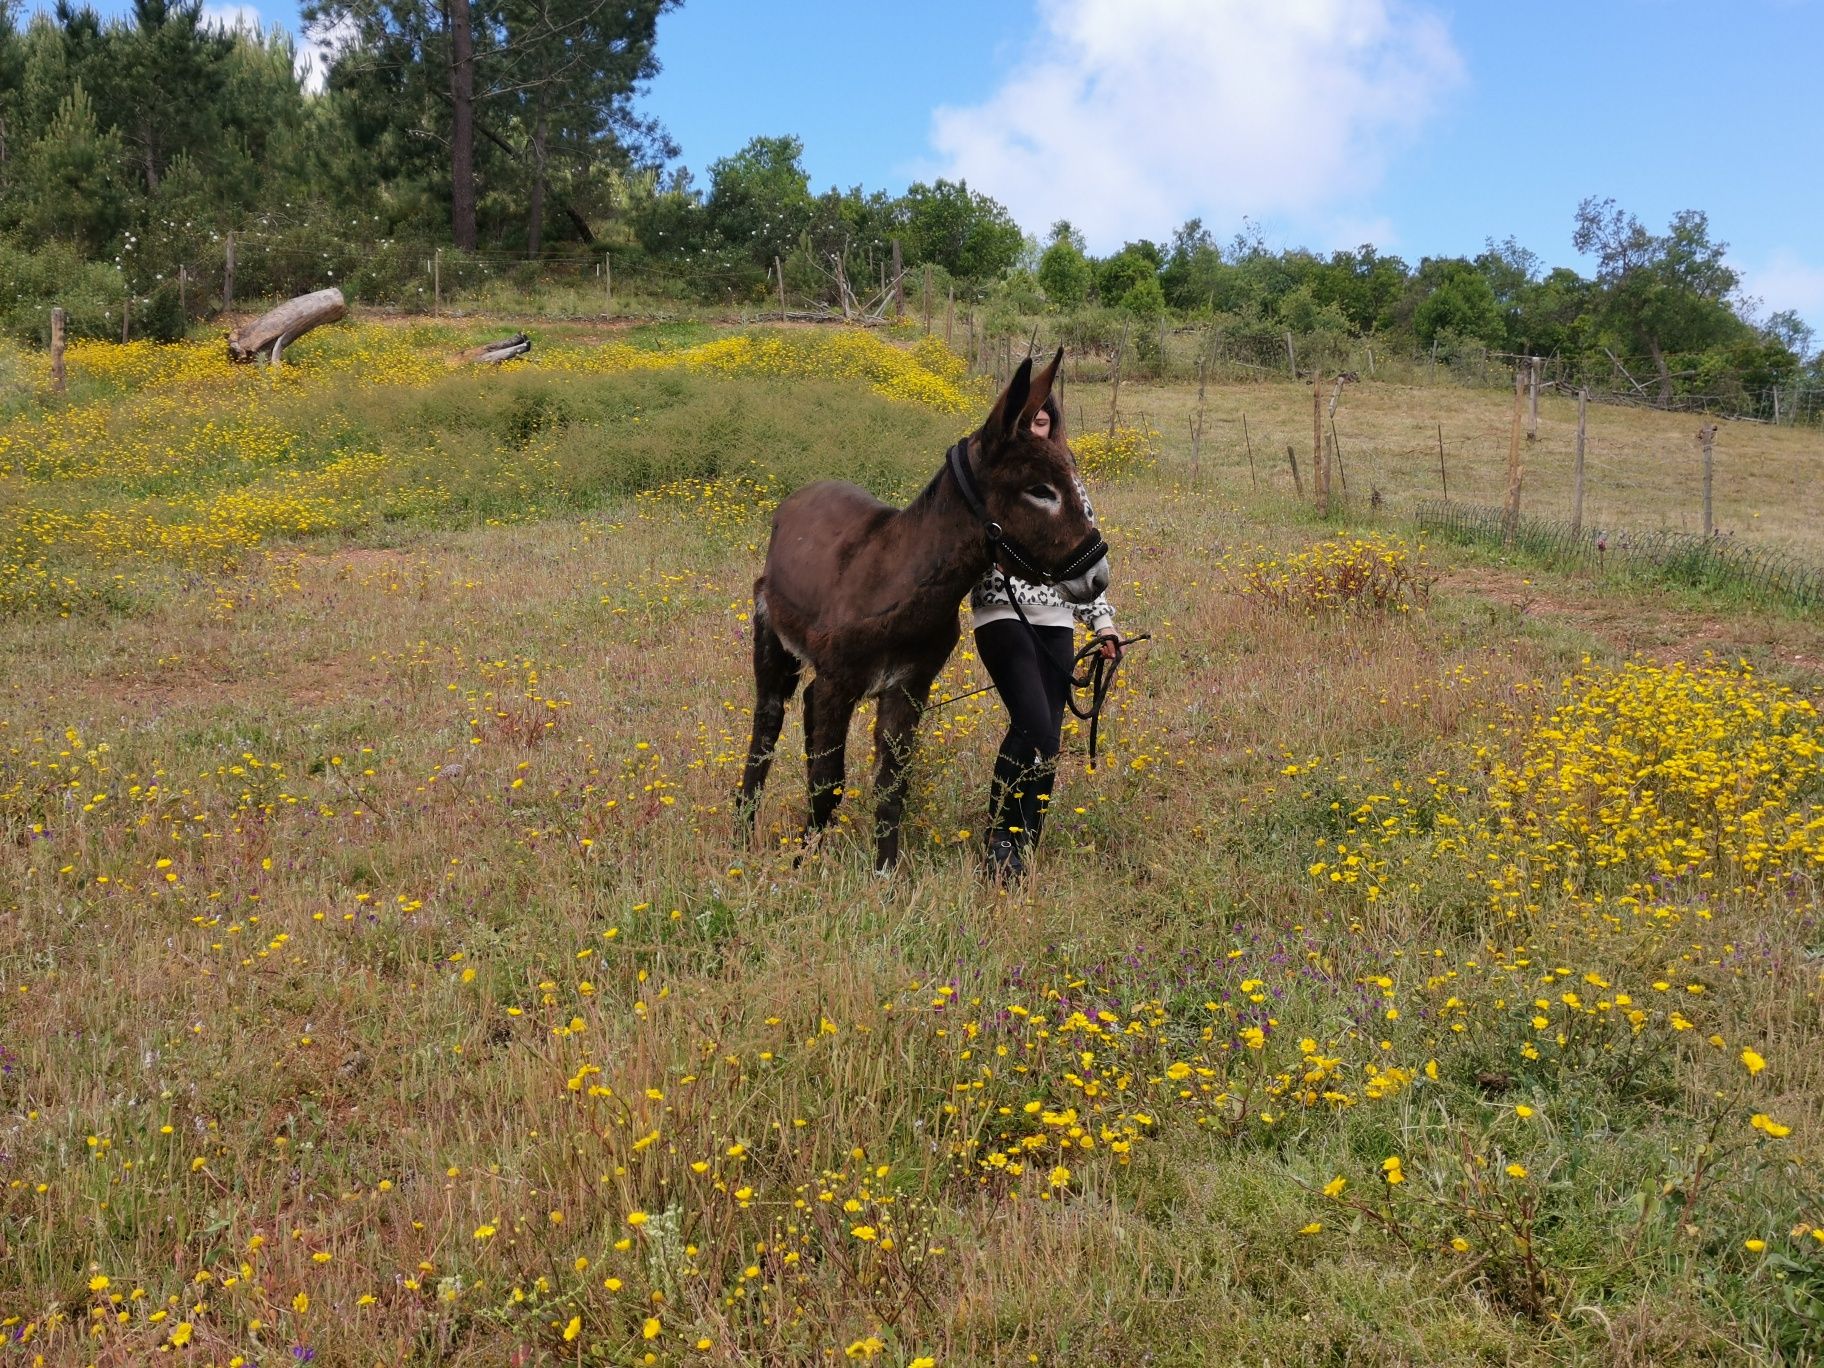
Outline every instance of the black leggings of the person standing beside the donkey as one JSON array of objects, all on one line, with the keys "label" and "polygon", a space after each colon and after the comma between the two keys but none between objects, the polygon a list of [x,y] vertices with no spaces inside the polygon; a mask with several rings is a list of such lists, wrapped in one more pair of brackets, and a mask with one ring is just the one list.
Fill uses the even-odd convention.
[{"label": "black leggings of the person standing beside the donkey", "polygon": [[[1029,629],[1016,618],[976,627],[976,655],[1000,689],[1009,719],[989,788],[990,841],[1010,835],[1016,845],[1032,845],[1045,824],[1074,642],[1071,627]],[[1040,651],[1051,657],[1049,664]]]}]

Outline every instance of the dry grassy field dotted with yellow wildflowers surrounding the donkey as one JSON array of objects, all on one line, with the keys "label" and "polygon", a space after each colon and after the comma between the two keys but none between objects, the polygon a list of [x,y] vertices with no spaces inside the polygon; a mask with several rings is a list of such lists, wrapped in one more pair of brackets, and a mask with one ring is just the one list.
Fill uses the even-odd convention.
[{"label": "dry grassy field dotted with yellow wildflowers surrounding the donkey", "polygon": [[[1155,640],[1036,876],[976,876],[992,695],[897,877],[865,741],[797,866],[795,719],[731,837],[766,509],[907,494],[979,383],[478,328],[0,398],[0,1363],[1824,1355],[1824,624],[1403,534],[1501,396],[1350,387],[1322,523],[1310,390],[1211,390],[1193,489],[1195,390],[1124,387]],[[1676,520],[1685,427],[1592,420],[1592,507]],[[1735,452],[1720,522],[1813,547],[1817,440]]]}]

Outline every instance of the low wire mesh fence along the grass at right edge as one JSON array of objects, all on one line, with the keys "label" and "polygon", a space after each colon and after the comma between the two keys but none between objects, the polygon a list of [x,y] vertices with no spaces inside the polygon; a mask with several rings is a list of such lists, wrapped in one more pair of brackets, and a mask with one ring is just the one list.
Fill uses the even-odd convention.
[{"label": "low wire mesh fence along the grass at right edge", "polygon": [[1680,584],[1704,587],[1744,586],[1800,607],[1824,607],[1824,567],[1775,547],[1757,547],[1733,536],[1698,536],[1680,531],[1627,531],[1581,527],[1556,518],[1519,516],[1503,509],[1452,500],[1425,500],[1417,509],[1419,529],[1456,542],[1516,545],[1556,564],[1594,565],[1634,562]]}]

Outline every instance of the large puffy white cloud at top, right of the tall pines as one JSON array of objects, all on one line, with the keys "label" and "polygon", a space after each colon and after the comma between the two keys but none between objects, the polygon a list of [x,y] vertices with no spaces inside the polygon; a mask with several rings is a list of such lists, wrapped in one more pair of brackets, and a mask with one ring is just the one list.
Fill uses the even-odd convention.
[{"label": "large puffy white cloud at top, right of the tall pines", "polygon": [[1463,77],[1404,0],[1040,0],[1000,89],[932,115],[939,173],[1093,248],[1191,215],[1330,219]]}]

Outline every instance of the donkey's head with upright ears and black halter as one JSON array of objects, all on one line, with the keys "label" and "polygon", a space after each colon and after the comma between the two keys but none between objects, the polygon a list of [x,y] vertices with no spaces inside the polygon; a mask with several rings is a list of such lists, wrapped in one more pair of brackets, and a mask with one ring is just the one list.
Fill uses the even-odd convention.
[{"label": "donkey's head with upright ears and black halter", "polygon": [[[1056,584],[1065,598],[1087,604],[1109,587],[1109,558],[1076,487],[1063,410],[1051,403],[1060,365],[1062,347],[1036,376],[1032,359],[1021,361],[970,449],[985,516],[990,529],[1001,529],[994,564],[1021,580]],[[1032,430],[1042,410],[1051,418],[1045,436]]]}]

